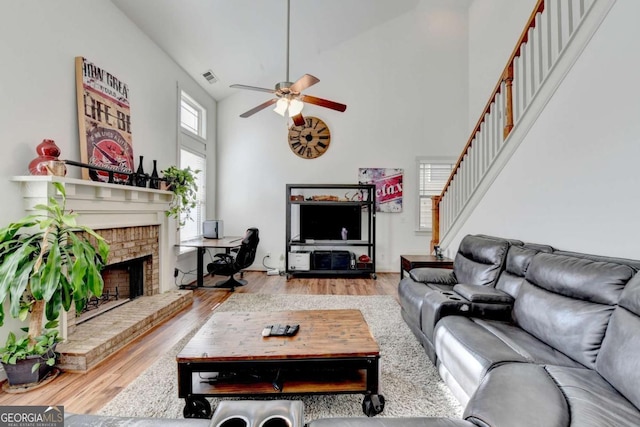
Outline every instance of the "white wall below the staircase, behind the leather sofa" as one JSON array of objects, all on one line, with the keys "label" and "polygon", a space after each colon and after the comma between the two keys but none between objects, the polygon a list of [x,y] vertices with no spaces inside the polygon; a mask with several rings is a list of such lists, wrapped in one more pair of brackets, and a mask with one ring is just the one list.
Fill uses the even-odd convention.
[{"label": "white wall below the staircase, behind the leather sofa", "polygon": [[640,258],[637,16],[617,0],[452,248],[485,233]]}]

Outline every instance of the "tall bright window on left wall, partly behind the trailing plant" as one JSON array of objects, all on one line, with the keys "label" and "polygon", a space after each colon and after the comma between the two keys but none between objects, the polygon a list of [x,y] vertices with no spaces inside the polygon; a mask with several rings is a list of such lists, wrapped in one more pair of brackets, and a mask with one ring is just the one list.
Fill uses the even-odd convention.
[{"label": "tall bright window on left wall, partly behind the trailing plant", "polygon": [[206,216],[207,194],[207,156],[205,123],[207,110],[198,104],[184,91],[180,91],[180,127],[178,145],[180,168],[187,167],[200,172],[196,174],[198,192],[196,206],[191,209],[189,217],[184,215],[181,220],[185,224],[180,228],[180,240],[189,240],[202,234],[202,222]]}]

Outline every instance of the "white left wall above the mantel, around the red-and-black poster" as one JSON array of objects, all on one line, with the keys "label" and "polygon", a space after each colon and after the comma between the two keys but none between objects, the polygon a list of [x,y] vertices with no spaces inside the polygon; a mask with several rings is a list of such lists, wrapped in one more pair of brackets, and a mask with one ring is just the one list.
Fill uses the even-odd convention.
[{"label": "white left wall above the mantel, around the red-and-black poster", "polygon": [[[0,13],[0,225],[24,214],[19,186],[9,178],[28,175],[27,165],[44,138],[56,141],[61,158],[80,161],[76,56],[129,85],[136,166],[139,155],[149,172],[152,159],[160,169],[177,163],[178,83],[209,109],[214,129],[215,102],[110,1],[11,1],[0,5]],[[210,175],[213,189],[215,174]],[[69,167],[69,176],[79,178],[80,170]]]}]

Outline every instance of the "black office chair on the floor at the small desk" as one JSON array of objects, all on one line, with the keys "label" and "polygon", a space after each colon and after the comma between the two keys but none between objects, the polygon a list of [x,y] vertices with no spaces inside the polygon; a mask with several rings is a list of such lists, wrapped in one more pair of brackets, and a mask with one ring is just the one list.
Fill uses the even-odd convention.
[{"label": "black office chair on the floor at the small desk", "polygon": [[216,288],[228,288],[233,291],[237,286],[247,284],[246,280],[236,280],[233,275],[240,272],[243,268],[253,264],[256,258],[256,250],[258,249],[258,229],[249,228],[242,239],[242,243],[235,255],[233,254],[215,254],[216,258],[212,263],[207,265],[207,271],[212,275],[220,274],[229,276],[224,282],[216,283]]}]

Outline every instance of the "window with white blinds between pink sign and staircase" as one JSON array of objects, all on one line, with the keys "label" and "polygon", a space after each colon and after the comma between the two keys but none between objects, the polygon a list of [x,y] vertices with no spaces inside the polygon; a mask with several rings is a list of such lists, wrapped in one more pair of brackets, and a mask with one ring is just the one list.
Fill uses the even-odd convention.
[{"label": "window with white blinds between pink sign and staircase", "polygon": [[439,196],[455,166],[453,158],[418,159],[418,230],[431,231],[431,196]]}]

